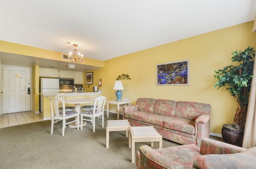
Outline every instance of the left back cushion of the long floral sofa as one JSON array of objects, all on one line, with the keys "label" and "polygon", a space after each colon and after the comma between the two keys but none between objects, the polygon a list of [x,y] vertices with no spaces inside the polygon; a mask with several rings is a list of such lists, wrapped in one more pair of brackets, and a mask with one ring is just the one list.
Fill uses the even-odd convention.
[{"label": "left back cushion of the long floral sofa", "polygon": [[138,111],[144,111],[146,113],[153,114],[155,102],[156,99],[152,98],[138,98],[136,103],[138,105]]}]

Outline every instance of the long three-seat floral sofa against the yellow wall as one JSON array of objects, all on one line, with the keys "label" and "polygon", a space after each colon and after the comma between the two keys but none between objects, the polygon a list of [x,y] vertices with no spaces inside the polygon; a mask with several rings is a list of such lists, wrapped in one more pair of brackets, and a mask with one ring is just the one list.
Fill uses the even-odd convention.
[{"label": "long three-seat floral sofa against the yellow wall", "polygon": [[131,126],[154,126],[164,139],[195,144],[210,137],[211,106],[205,103],[139,98],[136,105],[123,106],[123,119]]}]

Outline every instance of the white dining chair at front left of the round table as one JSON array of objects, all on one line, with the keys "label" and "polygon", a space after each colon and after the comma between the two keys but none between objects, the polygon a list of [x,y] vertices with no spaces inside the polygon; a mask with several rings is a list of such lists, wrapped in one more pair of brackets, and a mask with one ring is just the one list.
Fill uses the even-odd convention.
[{"label": "white dining chair at front left of the round table", "polygon": [[[59,105],[63,109],[60,111]],[[62,120],[62,136],[64,136],[66,125],[77,121],[77,129],[79,129],[79,113],[76,111],[66,111],[64,100],[59,97],[50,97],[50,106],[52,110],[51,134],[53,133],[53,125]],[[66,122],[66,119],[76,117],[73,121]]]}]

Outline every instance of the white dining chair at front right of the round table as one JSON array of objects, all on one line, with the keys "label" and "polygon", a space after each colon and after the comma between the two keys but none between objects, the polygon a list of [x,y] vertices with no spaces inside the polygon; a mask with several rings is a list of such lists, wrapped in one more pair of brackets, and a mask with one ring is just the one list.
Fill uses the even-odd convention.
[{"label": "white dining chair at front right of the round table", "polygon": [[[95,132],[95,117],[102,118],[102,128],[104,128],[104,107],[106,103],[106,97],[100,96],[97,97],[94,101],[93,109],[83,111],[80,113],[80,123],[82,124],[83,120],[92,122],[93,132]],[[96,108],[98,107],[98,108]],[[86,119],[84,117],[89,117],[90,119]],[[83,126],[81,125],[81,130]]]}]

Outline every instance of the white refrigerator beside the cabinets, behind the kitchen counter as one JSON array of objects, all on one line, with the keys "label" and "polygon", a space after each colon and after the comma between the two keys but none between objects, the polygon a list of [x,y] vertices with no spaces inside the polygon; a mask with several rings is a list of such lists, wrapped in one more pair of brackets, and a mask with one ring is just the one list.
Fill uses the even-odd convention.
[{"label": "white refrigerator beside the cabinets, behind the kitchen counter", "polygon": [[[59,93],[60,88],[60,80],[54,78],[40,78],[39,87],[40,93]],[[40,112],[43,111],[42,105],[43,95],[41,94],[39,97],[39,110]]]}]

